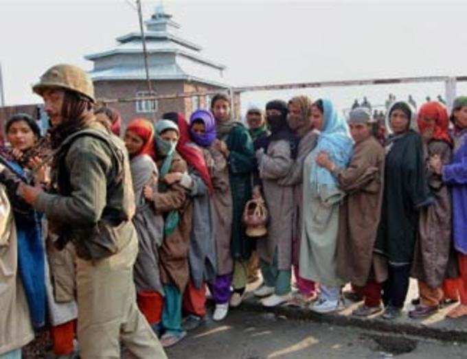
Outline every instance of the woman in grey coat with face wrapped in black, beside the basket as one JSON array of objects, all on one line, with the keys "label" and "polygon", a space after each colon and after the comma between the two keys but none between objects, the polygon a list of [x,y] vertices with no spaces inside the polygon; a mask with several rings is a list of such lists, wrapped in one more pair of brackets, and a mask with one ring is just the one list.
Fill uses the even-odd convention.
[{"label": "woman in grey coat with face wrapped in black, beside the basket", "polygon": [[255,291],[265,307],[274,307],[291,299],[291,259],[293,187],[277,183],[293,165],[296,137],[287,124],[287,104],[274,100],[266,104],[271,135],[266,150],[256,151],[262,192],[269,210],[267,238],[258,240],[260,268],[264,285]]}]

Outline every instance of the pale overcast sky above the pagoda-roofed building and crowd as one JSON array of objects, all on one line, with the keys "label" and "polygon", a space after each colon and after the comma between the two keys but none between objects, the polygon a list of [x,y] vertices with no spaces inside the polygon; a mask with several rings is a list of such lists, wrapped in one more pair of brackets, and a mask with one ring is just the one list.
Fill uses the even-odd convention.
[{"label": "pale overcast sky above the pagoda-roofed building and crowd", "polygon": [[[0,62],[8,105],[39,102],[31,84],[58,62],[91,69],[85,54],[138,30],[132,0],[0,0]],[[148,19],[159,1],[143,1]],[[394,76],[467,75],[466,1],[164,1],[183,37],[227,65],[233,85]],[[467,90],[464,84],[459,90]],[[389,91],[444,93],[442,84],[313,89],[344,106]],[[255,93],[244,102],[300,91]],[[301,91],[303,92],[303,90]]]}]

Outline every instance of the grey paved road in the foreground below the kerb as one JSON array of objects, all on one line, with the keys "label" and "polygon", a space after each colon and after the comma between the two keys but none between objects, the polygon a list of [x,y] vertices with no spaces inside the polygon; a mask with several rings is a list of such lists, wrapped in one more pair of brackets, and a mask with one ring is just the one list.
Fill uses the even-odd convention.
[{"label": "grey paved road in the foreground below the kerb", "polygon": [[225,321],[208,320],[167,353],[170,359],[452,359],[467,358],[467,345],[384,336],[352,327],[232,310]]}]

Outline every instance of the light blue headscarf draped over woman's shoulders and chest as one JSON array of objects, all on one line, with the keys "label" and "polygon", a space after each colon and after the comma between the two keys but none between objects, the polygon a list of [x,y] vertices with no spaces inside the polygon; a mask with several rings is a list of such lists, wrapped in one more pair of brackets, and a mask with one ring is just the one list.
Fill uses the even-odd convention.
[{"label": "light blue headscarf draped over woman's shoulders and chest", "polygon": [[[323,102],[323,128],[318,137],[315,153],[326,151],[337,166],[347,167],[354,146],[348,125],[338,115],[330,100],[321,101]],[[326,168],[319,165],[311,167],[310,182],[313,185],[337,185],[336,178]]]}]

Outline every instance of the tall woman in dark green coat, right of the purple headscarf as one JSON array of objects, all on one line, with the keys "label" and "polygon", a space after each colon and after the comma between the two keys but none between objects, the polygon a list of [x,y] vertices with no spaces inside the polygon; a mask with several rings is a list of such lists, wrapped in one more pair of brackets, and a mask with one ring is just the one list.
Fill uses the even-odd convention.
[{"label": "tall woman in dark green coat, right of the purple headscarf", "polygon": [[[227,297],[227,302],[216,303],[213,318],[222,320],[227,316],[229,304],[237,307],[242,303],[247,287],[248,261],[251,255],[251,240],[247,238],[242,213],[251,198],[251,172],[255,168],[253,141],[247,128],[231,117],[229,98],[214,95],[211,111],[216,119],[217,141],[214,146],[224,154],[229,165],[229,185],[232,194],[231,256],[234,258],[234,273],[216,281],[216,288]],[[234,288],[229,302],[229,288]]]}]

